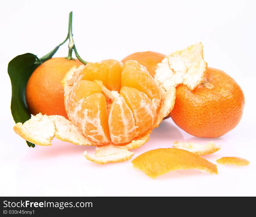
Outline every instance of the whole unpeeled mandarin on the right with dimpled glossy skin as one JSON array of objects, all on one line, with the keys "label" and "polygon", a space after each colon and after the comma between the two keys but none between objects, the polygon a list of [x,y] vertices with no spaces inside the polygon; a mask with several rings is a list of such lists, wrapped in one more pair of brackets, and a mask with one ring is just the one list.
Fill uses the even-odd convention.
[{"label": "whole unpeeled mandarin on the right with dimpled glossy skin", "polygon": [[223,136],[241,120],[243,91],[225,72],[210,67],[203,82],[193,91],[184,85],[176,88],[170,116],[178,127],[193,136]]}]

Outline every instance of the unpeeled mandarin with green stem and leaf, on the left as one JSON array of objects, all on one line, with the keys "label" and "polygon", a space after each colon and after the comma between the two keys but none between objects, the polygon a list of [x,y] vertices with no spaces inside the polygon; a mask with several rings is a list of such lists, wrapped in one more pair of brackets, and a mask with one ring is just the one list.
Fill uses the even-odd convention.
[{"label": "unpeeled mandarin with green stem and leaf, on the left", "polygon": [[67,118],[61,80],[72,66],[81,64],[77,59],[67,60],[64,57],[58,57],[51,58],[38,66],[26,86],[26,102],[29,111],[33,115],[41,112]]}]

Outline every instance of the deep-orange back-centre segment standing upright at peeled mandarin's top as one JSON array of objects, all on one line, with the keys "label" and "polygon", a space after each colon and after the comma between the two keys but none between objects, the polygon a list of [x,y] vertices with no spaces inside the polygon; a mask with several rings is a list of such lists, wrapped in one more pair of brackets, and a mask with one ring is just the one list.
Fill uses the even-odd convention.
[{"label": "deep-orange back-centre segment standing upright at peeled mandarin's top", "polygon": [[122,63],[117,60],[103,60],[103,64],[108,65],[109,70],[106,72],[106,88],[109,90],[120,91]]}]

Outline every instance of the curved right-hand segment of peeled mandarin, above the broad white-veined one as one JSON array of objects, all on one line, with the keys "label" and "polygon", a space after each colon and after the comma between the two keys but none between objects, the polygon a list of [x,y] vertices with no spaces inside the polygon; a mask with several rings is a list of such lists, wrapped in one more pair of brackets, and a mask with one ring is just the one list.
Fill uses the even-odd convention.
[{"label": "curved right-hand segment of peeled mandarin, above the broad white-veined one", "polygon": [[148,72],[136,70],[122,74],[122,87],[125,86],[140,90],[154,101],[156,107],[159,105],[161,99],[160,89]]}]

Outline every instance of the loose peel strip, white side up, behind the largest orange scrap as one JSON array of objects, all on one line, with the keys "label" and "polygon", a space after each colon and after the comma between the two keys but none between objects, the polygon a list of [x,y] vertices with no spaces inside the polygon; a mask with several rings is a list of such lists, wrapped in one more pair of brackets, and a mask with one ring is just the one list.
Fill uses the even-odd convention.
[{"label": "loose peel strip, white side up, behind the largest orange scrap", "polygon": [[193,142],[182,143],[182,142],[174,141],[173,147],[183,149],[198,155],[212,154],[221,149],[221,146],[215,145],[213,141],[206,143],[206,145],[201,145]]}]

